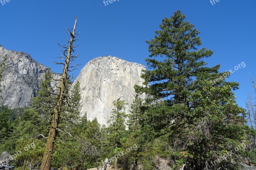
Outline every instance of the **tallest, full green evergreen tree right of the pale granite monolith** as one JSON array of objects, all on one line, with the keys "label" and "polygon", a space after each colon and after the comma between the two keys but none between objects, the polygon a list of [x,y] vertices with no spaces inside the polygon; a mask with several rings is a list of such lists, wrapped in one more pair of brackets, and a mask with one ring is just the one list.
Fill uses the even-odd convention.
[{"label": "tallest, full green evergreen tree right of the pale granite monolith", "polygon": [[146,61],[151,70],[141,77],[145,85],[151,85],[135,85],[135,90],[150,97],[146,100],[148,109],[138,121],[137,141],[147,145],[168,135],[174,151],[170,156],[177,167],[186,164],[203,169],[212,167],[211,161],[221,151],[242,141],[239,124],[244,122],[240,116],[244,109],[237,106],[231,92],[238,83],[226,82],[229,73],[218,72],[220,65],[205,66],[204,59],[213,52],[197,49],[202,44],[199,32],[184,20],[185,15],[176,11],[163,19],[155,38],[146,41],[150,52]]}]

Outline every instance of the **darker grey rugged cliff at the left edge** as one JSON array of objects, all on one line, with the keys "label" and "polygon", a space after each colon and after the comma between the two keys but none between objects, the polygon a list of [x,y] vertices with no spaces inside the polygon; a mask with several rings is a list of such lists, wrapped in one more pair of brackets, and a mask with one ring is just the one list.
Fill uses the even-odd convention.
[{"label": "darker grey rugged cliff at the left edge", "polygon": [[0,103],[11,108],[28,107],[38,90],[40,79],[44,78],[48,68],[37,63],[26,53],[9,51],[3,47],[0,47],[0,62],[6,54]]}]

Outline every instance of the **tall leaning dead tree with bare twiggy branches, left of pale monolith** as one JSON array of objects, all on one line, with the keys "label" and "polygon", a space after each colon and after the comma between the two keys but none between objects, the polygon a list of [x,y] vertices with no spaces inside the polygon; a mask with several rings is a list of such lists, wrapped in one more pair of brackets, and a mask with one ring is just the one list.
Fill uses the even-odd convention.
[{"label": "tall leaning dead tree with bare twiggy branches, left of pale monolith", "polygon": [[[76,17],[76,20],[77,20],[77,17]],[[70,81],[70,76],[68,75],[68,71],[72,71],[69,69],[72,67],[75,67],[75,66],[70,66],[70,63],[72,63],[74,58],[77,57],[77,55],[75,55],[75,56],[71,55],[71,53],[75,51],[73,49],[73,48],[75,48],[73,46],[73,42],[76,41],[75,40],[75,38],[76,38],[75,29],[76,29],[76,21],[75,21],[72,33],[68,30],[68,33],[70,35],[70,41],[68,41],[69,45],[61,46],[61,47],[65,48],[65,50],[63,50],[65,57],[61,56],[61,58],[65,61],[65,63],[56,63],[56,64],[63,64],[64,68],[63,68],[60,83],[58,86],[58,94],[57,94],[56,104],[54,107],[52,123],[51,123],[50,131],[49,131],[49,135],[48,135],[48,141],[47,141],[47,145],[45,148],[44,157],[43,157],[43,161],[42,161],[40,170],[50,170],[52,153],[53,153],[53,149],[54,149],[54,143],[56,141],[57,131],[59,130],[60,132],[63,132],[63,130],[58,129],[58,125],[59,125],[59,121],[60,121],[60,117],[61,117],[60,113],[63,111],[63,108],[67,107],[67,105],[68,105],[65,102],[66,98],[69,97],[68,82]],[[65,132],[67,132],[67,131],[65,131]]]}]

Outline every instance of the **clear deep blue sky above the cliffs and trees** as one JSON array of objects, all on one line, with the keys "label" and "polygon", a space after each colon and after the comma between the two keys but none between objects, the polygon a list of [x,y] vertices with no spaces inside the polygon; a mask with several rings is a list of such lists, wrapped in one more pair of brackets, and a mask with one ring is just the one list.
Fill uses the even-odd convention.
[{"label": "clear deep blue sky above the cliffs and trees", "polygon": [[239,82],[235,91],[237,102],[244,106],[247,92],[253,92],[249,72],[256,81],[256,1],[220,0],[116,0],[105,6],[103,0],[11,0],[0,3],[0,44],[8,50],[29,53],[36,61],[53,71],[60,65],[52,60],[60,55],[56,42],[66,44],[68,34],[78,15],[80,52],[74,72],[77,76],[84,65],[99,56],[113,55],[146,65],[148,45],[154,38],[162,18],[181,10],[201,32],[202,47],[214,54],[206,61],[209,66],[221,64],[220,71],[234,70],[244,62],[245,68],[234,72],[229,81]]}]

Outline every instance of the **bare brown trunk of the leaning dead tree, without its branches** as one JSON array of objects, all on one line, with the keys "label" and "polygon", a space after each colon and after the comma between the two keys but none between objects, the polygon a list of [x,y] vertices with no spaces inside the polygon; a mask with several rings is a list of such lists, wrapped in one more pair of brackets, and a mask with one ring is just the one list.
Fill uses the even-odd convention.
[{"label": "bare brown trunk of the leaning dead tree, without its branches", "polygon": [[[77,17],[76,17],[77,20]],[[42,161],[42,165],[40,170],[50,170],[51,167],[51,161],[52,161],[52,153],[53,153],[53,148],[54,148],[54,142],[55,142],[55,138],[56,138],[56,131],[59,125],[59,120],[60,120],[60,111],[62,109],[62,102],[63,102],[63,96],[64,96],[64,91],[67,87],[67,76],[68,76],[68,67],[69,67],[69,62],[70,62],[70,56],[71,56],[71,52],[72,52],[72,47],[73,47],[73,42],[74,42],[74,38],[75,38],[75,29],[76,29],[76,21],[75,21],[75,25],[73,28],[73,32],[70,33],[70,42],[69,42],[69,47],[68,47],[68,53],[67,53],[67,57],[66,57],[66,62],[65,62],[65,66],[63,69],[63,73],[62,73],[62,77],[60,80],[60,86],[58,88],[59,92],[58,92],[58,97],[57,97],[57,101],[56,101],[56,106],[54,109],[54,114],[53,114],[53,119],[52,119],[52,124],[50,127],[50,132],[48,135],[48,141],[47,141],[47,145],[46,145],[46,149],[44,152],[44,157],[43,157],[43,161]]]}]

